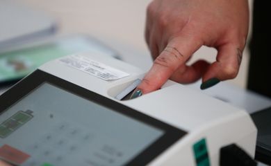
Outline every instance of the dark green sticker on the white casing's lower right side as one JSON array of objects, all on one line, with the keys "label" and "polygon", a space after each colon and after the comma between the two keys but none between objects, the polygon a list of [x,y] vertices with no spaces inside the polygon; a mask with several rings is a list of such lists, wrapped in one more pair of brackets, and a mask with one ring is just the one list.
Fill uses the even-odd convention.
[{"label": "dark green sticker on the white casing's lower right side", "polygon": [[195,144],[193,145],[193,151],[197,166],[210,166],[208,148],[205,138],[202,138],[202,140],[195,142]]}]

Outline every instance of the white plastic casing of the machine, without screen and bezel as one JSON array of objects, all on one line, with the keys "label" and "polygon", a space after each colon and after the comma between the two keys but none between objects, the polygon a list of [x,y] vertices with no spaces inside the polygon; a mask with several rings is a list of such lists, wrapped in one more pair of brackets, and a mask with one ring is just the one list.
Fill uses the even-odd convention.
[{"label": "white plastic casing of the machine, without screen and bezel", "polygon": [[129,76],[106,81],[60,63],[59,59],[39,69],[187,132],[149,165],[197,165],[193,145],[202,139],[206,140],[211,165],[219,165],[220,148],[232,143],[254,156],[257,131],[245,110],[172,81],[140,98],[116,100],[115,96],[134,80],[142,78],[145,71],[110,57],[90,53],[81,53],[80,56],[125,71]]}]

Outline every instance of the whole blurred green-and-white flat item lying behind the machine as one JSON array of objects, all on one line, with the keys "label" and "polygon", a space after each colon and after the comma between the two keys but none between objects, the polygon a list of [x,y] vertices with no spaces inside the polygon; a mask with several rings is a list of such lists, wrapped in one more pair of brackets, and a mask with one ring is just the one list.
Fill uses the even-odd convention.
[{"label": "whole blurred green-and-white flat item lying behind the machine", "polygon": [[66,55],[91,51],[117,56],[115,50],[90,37],[66,37],[0,53],[0,85],[13,84],[36,68]]}]

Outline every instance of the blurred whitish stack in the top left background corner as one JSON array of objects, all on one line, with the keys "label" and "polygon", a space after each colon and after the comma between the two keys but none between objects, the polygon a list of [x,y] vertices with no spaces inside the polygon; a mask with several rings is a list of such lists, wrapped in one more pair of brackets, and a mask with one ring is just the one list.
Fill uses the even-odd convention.
[{"label": "blurred whitish stack in the top left background corner", "polygon": [[18,1],[0,1],[0,50],[56,31],[54,19]]}]

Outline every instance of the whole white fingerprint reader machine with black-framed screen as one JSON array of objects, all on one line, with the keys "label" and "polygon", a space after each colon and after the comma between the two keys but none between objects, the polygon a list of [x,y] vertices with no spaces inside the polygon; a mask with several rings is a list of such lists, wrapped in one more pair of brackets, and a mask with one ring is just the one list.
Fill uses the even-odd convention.
[{"label": "whole white fingerprint reader machine with black-framed screen", "polygon": [[44,64],[0,96],[0,158],[14,165],[219,165],[220,148],[230,144],[254,156],[256,128],[244,110],[172,81],[121,100],[144,74],[90,53]]}]

